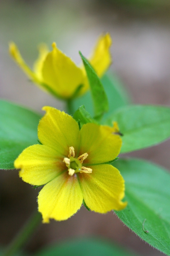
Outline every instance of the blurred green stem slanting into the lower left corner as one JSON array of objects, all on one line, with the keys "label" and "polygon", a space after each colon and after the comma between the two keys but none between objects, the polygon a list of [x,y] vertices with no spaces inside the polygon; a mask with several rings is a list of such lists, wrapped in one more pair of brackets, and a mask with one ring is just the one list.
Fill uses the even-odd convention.
[{"label": "blurred green stem slanting into the lower left corner", "polygon": [[16,253],[22,245],[29,239],[34,230],[40,224],[42,220],[41,214],[36,210],[25,225],[19,230],[19,233],[14,237],[7,250],[4,253],[4,256],[10,256]]}]

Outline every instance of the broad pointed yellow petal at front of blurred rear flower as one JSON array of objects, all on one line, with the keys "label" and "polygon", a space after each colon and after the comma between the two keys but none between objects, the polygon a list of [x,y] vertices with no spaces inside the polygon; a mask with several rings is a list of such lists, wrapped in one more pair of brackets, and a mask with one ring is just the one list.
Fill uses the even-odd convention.
[{"label": "broad pointed yellow petal at front of blurred rear flower", "polygon": [[52,44],[42,68],[43,81],[61,98],[70,98],[79,85],[84,84],[82,70]]}]

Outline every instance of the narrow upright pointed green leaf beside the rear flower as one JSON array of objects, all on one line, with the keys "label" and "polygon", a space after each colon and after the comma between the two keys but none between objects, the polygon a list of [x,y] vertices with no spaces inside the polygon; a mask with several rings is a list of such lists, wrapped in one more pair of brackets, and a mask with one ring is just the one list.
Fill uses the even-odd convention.
[{"label": "narrow upright pointed green leaf beside the rear flower", "polygon": [[85,70],[88,76],[88,81],[91,88],[91,95],[94,102],[94,115],[95,118],[100,119],[105,112],[109,110],[109,104],[107,100],[106,93],[104,91],[103,85],[94,71],[93,67],[91,67],[88,60],[79,52],[83,64],[85,66]]}]

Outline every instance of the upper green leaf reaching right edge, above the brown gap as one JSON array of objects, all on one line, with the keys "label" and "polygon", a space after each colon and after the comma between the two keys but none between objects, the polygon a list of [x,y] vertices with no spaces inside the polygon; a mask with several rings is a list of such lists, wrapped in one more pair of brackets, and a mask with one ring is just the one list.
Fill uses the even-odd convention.
[{"label": "upper green leaf reaching right edge, above the brown gap", "polygon": [[156,145],[170,136],[170,108],[132,105],[118,109],[107,120],[117,121],[123,134],[121,153]]}]

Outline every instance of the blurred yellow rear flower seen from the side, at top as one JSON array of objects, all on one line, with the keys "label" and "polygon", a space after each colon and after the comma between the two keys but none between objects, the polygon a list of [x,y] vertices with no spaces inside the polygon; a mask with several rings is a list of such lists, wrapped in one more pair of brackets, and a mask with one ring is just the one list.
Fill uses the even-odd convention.
[{"label": "blurred yellow rear flower seen from the side, at top", "polygon": [[[100,36],[96,48],[89,59],[99,77],[103,76],[111,64],[109,48],[112,39],[107,33]],[[29,78],[42,89],[62,99],[70,99],[82,95],[89,89],[88,79],[83,66],[76,64],[52,43],[49,52],[45,45],[39,49],[39,58],[31,70],[22,59],[18,48],[10,43],[10,54]]]}]

